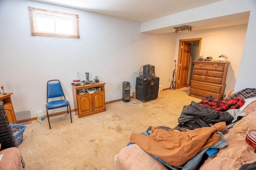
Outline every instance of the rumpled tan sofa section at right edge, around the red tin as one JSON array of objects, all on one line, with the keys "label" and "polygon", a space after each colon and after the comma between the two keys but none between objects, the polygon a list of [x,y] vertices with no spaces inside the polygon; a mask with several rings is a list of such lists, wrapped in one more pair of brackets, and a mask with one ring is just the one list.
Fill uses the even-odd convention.
[{"label": "rumpled tan sofa section at right edge, around the red tin", "polygon": [[243,164],[255,162],[256,153],[245,141],[247,131],[256,129],[255,122],[256,111],[253,111],[236,123],[230,129],[231,133],[226,137],[228,146],[220,149],[216,156],[208,158],[200,167],[200,170],[238,170]]}]

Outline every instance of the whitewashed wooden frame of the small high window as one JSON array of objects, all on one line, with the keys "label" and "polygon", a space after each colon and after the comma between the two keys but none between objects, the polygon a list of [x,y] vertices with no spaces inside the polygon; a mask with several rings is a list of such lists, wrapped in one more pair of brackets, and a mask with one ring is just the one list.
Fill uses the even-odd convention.
[{"label": "whitewashed wooden frame of the small high window", "polygon": [[[80,38],[79,35],[79,16],[76,14],[68,14],[63,12],[56,12],[50,10],[44,10],[39,8],[33,8],[31,6],[28,7],[29,16],[30,16],[30,26],[31,26],[31,35],[40,35],[40,36],[50,36],[50,37],[68,37],[68,38]],[[56,20],[63,20],[63,21],[71,21],[72,22],[72,33],[70,32],[63,32],[60,33],[56,30],[54,26],[53,31],[38,31],[37,25],[37,16],[42,16],[44,18],[49,16],[53,19],[54,24],[56,24]]]}]

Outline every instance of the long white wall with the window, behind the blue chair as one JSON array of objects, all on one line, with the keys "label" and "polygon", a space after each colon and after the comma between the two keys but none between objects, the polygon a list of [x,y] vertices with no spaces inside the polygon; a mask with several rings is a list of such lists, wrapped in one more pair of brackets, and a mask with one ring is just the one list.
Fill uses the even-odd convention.
[{"label": "long white wall with the window, behind the blue chair", "polygon": [[[80,39],[31,36],[28,6],[79,15]],[[140,33],[140,23],[30,0],[0,0],[0,83],[14,111],[45,111],[46,82],[59,79],[74,108],[71,81],[80,72],[106,82],[106,101],[122,98],[122,82],[135,92],[140,66],[153,64],[170,86],[176,35]],[[166,81],[163,81],[166,80]],[[59,110],[54,110],[54,112]]]}]

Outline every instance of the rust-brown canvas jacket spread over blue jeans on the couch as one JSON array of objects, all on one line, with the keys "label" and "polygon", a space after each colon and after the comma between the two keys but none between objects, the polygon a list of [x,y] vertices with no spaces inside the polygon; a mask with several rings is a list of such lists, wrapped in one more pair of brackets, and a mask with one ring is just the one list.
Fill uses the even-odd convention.
[{"label": "rust-brown canvas jacket spread over blue jeans on the couch", "polygon": [[158,156],[172,166],[180,166],[219,141],[221,136],[215,132],[225,129],[225,122],[186,132],[166,131],[152,127],[150,136],[132,133],[130,142],[136,143],[146,152]]}]

